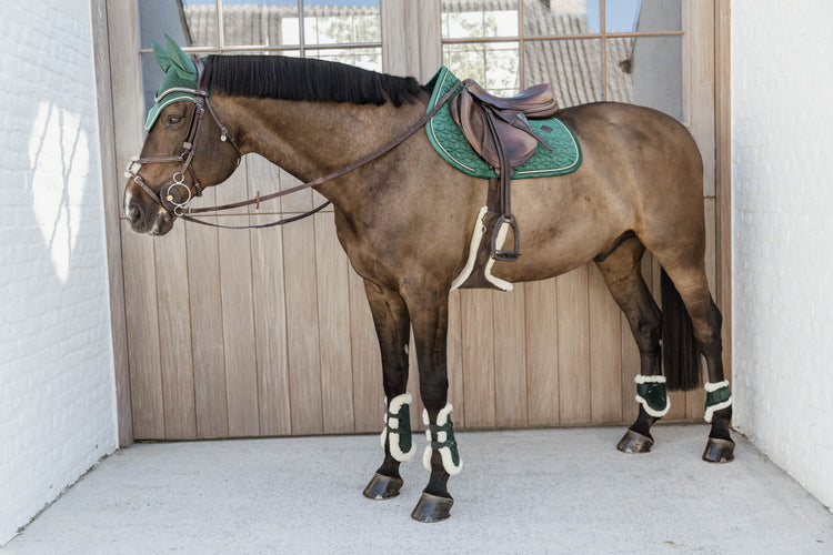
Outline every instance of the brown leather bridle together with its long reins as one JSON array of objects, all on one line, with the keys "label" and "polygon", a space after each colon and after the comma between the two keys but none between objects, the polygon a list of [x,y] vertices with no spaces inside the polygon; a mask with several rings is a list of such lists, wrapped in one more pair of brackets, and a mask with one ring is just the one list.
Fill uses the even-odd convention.
[{"label": "brown leather bridle together with its long reins", "polygon": [[[452,85],[451,90],[449,90],[449,92],[446,92],[436,102],[436,104],[434,104],[434,107],[430,111],[428,111],[422,118],[420,118],[413,124],[411,124],[411,127],[409,127],[401,135],[387,142],[381,148],[379,148],[379,150],[368,154],[367,157],[360,160],[357,160],[355,162],[349,165],[345,165],[344,168],[340,170],[335,170],[331,173],[328,173],[327,175],[322,175],[312,181],[308,181],[307,183],[301,183],[300,185],[295,185],[290,189],[284,189],[283,191],[278,191],[275,193],[270,193],[263,196],[261,196],[260,192],[258,192],[253,199],[249,199],[245,201],[232,202],[229,204],[222,204],[220,206],[207,206],[207,208],[192,209],[192,208],[188,208],[187,204],[191,202],[191,200],[194,196],[200,196],[202,194],[202,190],[204,189],[200,184],[199,180],[197,179],[197,175],[193,172],[193,168],[191,167],[191,160],[193,159],[193,155],[197,151],[198,131],[200,128],[200,123],[202,121],[202,115],[205,111],[205,107],[208,107],[209,113],[214,119],[214,122],[220,127],[220,131],[221,131],[220,140],[222,141],[228,140],[231,143],[231,145],[234,147],[234,150],[238,153],[238,164],[240,164],[240,160],[242,158],[242,154],[237,143],[228,134],[227,128],[222,123],[220,123],[220,120],[217,118],[217,115],[214,114],[214,111],[211,109],[211,104],[208,102],[208,92],[207,92],[208,88],[205,87],[207,83],[204,82],[204,74],[205,74],[204,65],[202,64],[201,60],[193,60],[193,62],[194,62],[194,65],[197,65],[197,89],[177,88],[177,89],[170,89],[163,92],[163,94],[167,94],[173,91],[181,91],[181,92],[188,92],[194,95],[194,100],[193,100],[194,112],[191,117],[191,124],[189,128],[188,135],[185,138],[185,141],[182,143],[182,148],[183,148],[182,154],[178,157],[151,157],[151,158],[133,159],[130,162],[130,165],[128,165],[128,171],[126,172],[126,176],[136,181],[136,183],[138,183],[139,186],[141,186],[142,190],[144,190],[144,192],[148,193],[151,196],[151,199],[153,199],[153,201],[160,206],[162,206],[165,211],[173,212],[174,215],[182,218],[183,220],[188,222],[199,223],[200,225],[208,225],[211,228],[222,228],[227,230],[250,230],[250,229],[272,228],[274,225],[283,225],[287,223],[295,222],[298,220],[308,218],[317,212],[320,212],[321,210],[323,210],[330,204],[330,201],[319,204],[314,209],[310,210],[309,212],[304,212],[303,214],[298,214],[291,218],[287,218],[287,219],[278,220],[275,222],[264,223],[260,225],[222,225],[218,223],[207,222],[204,220],[199,220],[197,218],[193,218],[191,214],[219,212],[221,210],[231,210],[231,209],[241,208],[241,206],[249,206],[251,204],[254,204],[255,208],[260,208],[260,203],[262,201],[278,199],[280,196],[284,196],[284,195],[292,194],[299,191],[303,191],[305,189],[321,185],[323,183],[327,183],[328,181],[340,178],[347,173],[352,172],[353,170],[357,170],[363,165],[367,165],[370,162],[373,162],[374,160],[383,157],[391,150],[402,144],[408,138],[413,135],[423,125],[425,125],[425,123],[428,123],[428,121],[431,118],[433,118],[443,105],[445,105],[453,97],[458,95],[461,92],[460,85],[462,84],[460,81],[456,81]],[[144,180],[137,173],[138,168],[133,170],[134,164],[139,164],[141,167],[142,163],[179,162],[179,161],[182,161],[182,169],[172,175],[173,183],[168,185],[167,194],[164,199],[161,196],[162,194],[161,189],[160,189],[159,194],[153,192],[153,190],[150,186],[148,186]],[[195,191],[193,195],[191,194],[191,188],[189,188],[184,183],[185,171],[190,172],[191,179],[193,180],[193,184],[194,184],[193,186]],[[177,186],[182,186],[188,191],[188,196],[184,200],[174,200],[174,196],[172,194],[172,189]],[[172,206],[172,209],[170,206]]]}]

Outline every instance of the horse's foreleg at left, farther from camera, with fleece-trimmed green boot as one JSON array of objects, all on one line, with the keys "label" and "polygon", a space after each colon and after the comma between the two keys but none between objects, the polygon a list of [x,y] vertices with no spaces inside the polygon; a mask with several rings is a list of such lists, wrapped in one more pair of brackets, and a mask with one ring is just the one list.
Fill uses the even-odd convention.
[{"label": "horse's foreleg at left, farther from camera, with fleece-trimmed green boot", "polygon": [[385,395],[385,425],[381,435],[384,461],[364,488],[364,496],[387,500],[399,495],[402,487],[399,465],[415,452],[411,440],[411,395],[405,391],[410,319],[404,301],[395,291],[367,280],[364,291],[382,353]]}]

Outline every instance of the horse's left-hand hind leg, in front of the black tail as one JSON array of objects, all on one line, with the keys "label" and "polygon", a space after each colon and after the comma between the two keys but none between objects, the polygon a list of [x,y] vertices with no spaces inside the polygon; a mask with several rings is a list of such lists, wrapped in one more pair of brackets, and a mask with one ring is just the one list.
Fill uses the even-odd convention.
[{"label": "horse's left-hand hind leg, in front of the black tail", "polygon": [[624,312],[640,351],[636,400],[640,412],[616,446],[625,453],[646,453],[653,445],[651,426],[669,410],[662,374],[662,315],[642,278],[644,245],[635,236],[624,239],[612,252],[598,256],[596,266],[613,299]]}]

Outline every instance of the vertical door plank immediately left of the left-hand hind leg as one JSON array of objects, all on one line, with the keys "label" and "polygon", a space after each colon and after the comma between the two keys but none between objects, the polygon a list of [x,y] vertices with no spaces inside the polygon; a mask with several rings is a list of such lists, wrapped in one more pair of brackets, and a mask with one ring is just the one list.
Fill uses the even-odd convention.
[{"label": "vertical door plank immediately left of the left-hand hind leg", "polygon": [[621,310],[608,291],[601,272],[589,266],[591,420],[622,420]]}]

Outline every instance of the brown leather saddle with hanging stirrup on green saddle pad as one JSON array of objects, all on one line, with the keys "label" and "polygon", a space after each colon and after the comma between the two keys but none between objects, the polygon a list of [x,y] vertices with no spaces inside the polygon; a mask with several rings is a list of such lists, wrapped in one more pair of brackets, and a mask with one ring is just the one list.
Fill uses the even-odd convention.
[{"label": "brown leather saddle with hanging stirrup on green saddle pad", "polygon": [[[500,174],[499,183],[498,178],[489,180],[488,213],[483,223],[490,232],[491,258],[514,262],[520,256],[520,241],[518,223],[511,210],[512,172],[515,167],[532,158],[539,143],[552,150],[528,121],[529,118],[551,118],[558,112],[552,85],[536,84],[516,97],[500,98],[466,79],[463,81],[462,92],[452,99],[449,109],[474,151]],[[504,223],[513,232],[512,250],[502,250],[496,244]]]}]

